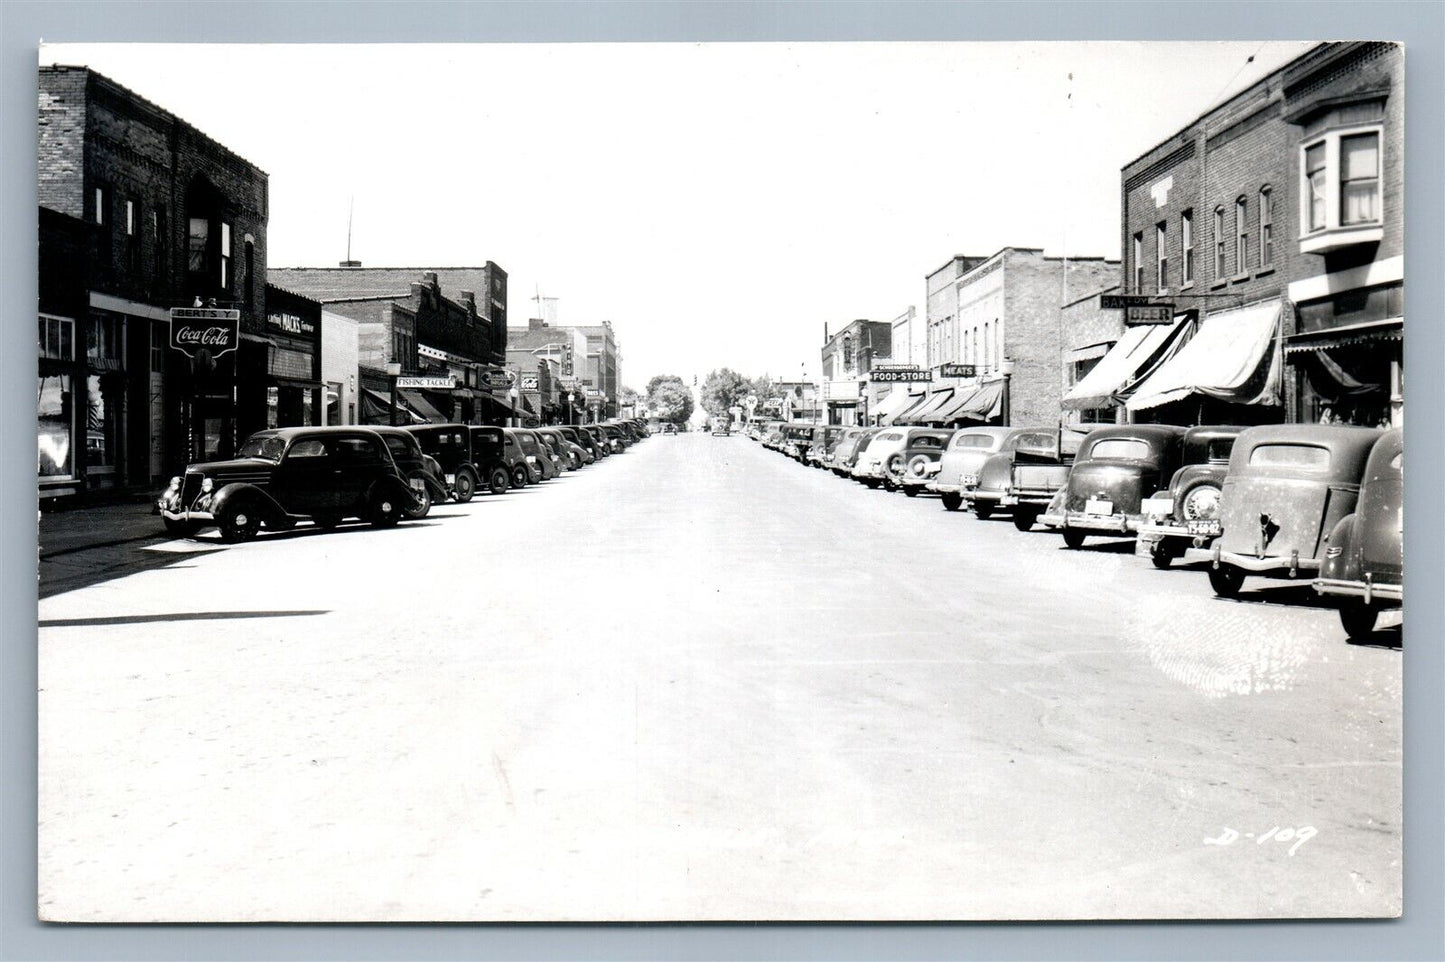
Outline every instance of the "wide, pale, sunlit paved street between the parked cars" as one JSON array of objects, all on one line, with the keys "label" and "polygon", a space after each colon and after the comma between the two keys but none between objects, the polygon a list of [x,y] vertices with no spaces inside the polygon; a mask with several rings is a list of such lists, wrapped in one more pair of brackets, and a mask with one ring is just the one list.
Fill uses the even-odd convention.
[{"label": "wide, pale, sunlit paved street between the parked cars", "polygon": [[105,549],[40,602],[42,914],[1397,909],[1400,651],[1131,547],[682,435],[392,530]]}]

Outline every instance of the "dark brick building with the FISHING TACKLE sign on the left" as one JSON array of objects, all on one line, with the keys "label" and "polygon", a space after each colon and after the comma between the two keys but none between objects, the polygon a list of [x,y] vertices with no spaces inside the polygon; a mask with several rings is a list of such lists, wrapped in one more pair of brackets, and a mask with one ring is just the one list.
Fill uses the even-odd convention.
[{"label": "dark brick building with the FISHING TACKLE sign on the left", "polygon": [[[357,322],[358,420],[501,423],[512,416],[507,274],[483,267],[280,267],[270,277]],[[393,367],[394,365],[394,367]],[[449,380],[402,387],[392,374]]]}]

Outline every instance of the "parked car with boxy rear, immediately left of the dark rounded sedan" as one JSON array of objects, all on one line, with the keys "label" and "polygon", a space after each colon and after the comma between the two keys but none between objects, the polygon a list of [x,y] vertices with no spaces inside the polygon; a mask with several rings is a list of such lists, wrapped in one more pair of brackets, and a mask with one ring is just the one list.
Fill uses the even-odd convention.
[{"label": "parked car with boxy rear, immediately left of the dark rounded sedan", "polygon": [[1071,428],[1029,428],[1009,435],[998,454],[984,461],[978,482],[965,494],[974,517],[1007,508],[1013,526],[1027,532],[1069,481],[1081,435]]}]

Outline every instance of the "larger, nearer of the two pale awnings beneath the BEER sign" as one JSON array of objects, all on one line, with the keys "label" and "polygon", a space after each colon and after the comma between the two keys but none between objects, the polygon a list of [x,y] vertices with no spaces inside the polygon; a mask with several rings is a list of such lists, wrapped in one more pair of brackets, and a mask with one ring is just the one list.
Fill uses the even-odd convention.
[{"label": "larger, nearer of the two pale awnings beneath the BEER sign", "polygon": [[1234,404],[1280,403],[1279,300],[1211,313],[1126,403],[1157,407],[1204,394]]}]

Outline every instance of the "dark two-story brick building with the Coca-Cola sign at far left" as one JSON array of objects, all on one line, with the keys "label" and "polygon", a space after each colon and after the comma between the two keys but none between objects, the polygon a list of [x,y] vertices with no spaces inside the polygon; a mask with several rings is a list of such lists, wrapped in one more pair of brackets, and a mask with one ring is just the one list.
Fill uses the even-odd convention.
[{"label": "dark two-story brick building with the Coca-Cola sign at far left", "polygon": [[[38,87],[40,208],[88,225],[77,246],[77,231],[42,214],[42,289],[56,272],[85,285],[68,313],[42,309],[58,338],[45,335],[42,357],[74,351],[74,367],[40,386],[42,406],[46,391],[69,399],[49,430],[68,419],[72,454],[42,495],[153,487],[266,423],[267,178],[88,68],[42,66]],[[84,267],[66,263],[75,257]],[[192,358],[171,347],[171,311],[197,303],[240,321],[224,350]]]}]

